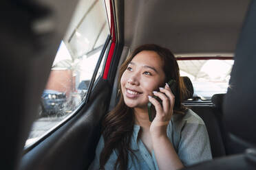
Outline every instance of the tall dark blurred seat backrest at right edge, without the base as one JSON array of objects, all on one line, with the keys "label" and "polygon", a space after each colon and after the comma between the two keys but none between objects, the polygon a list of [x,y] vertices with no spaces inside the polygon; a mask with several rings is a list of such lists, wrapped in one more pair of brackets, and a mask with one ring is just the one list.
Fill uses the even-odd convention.
[{"label": "tall dark blurred seat backrest at right edge, without the base", "polygon": [[234,64],[224,97],[224,120],[229,132],[256,146],[256,1],[251,1],[237,42]]}]

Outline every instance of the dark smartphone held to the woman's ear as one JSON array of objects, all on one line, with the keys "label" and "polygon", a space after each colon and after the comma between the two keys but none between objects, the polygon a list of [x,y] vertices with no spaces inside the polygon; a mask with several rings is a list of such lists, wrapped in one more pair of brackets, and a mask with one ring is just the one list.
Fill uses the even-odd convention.
[{"label": "dark smartphone held to the woman's ear", "polygon": [[[171,89],[171,92],[173,93],[173,95],[175,96],[175,92],[176,92],[176,81],[175,80],[170,80],[167,83]],[[162,104],[162,100],[159,97],[154,96],[155,99],[157,99],[160,104]],[[155,119],[156,117],[156,108],[155,106],[153,106],[153,104],[149,101],[149,103],[147,104],[147,111],[149,113],[149,121],[153,121],[153,119]]]}]

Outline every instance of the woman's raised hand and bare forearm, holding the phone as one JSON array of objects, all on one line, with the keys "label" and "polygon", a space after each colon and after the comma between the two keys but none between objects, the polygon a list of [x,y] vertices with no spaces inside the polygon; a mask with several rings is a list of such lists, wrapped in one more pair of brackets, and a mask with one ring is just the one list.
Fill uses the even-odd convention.
[{"label": "woman's raised hand and bare forearm, holding the phone", "polygon": [[173,116],[175,97],[168,84],[154,95],[162,100],[161,105],[157,99],[149,97],[149,101],[156,108],[156,117],[150,125],[149,132],[158,167],[159,169],[181,169],[182,162],[167,137],[167,125]]}]

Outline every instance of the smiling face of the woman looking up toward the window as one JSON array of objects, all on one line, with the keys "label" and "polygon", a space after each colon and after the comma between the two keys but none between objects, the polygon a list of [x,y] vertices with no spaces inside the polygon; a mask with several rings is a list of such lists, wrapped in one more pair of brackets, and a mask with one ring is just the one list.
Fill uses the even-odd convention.
[{"label": "smiling face of the woman looking up toward the window", "polygon": [[155,51],[141,51],[122,73],[121,89],[129,108],[145,108],[153,90],[163,86],[163,62]]}]

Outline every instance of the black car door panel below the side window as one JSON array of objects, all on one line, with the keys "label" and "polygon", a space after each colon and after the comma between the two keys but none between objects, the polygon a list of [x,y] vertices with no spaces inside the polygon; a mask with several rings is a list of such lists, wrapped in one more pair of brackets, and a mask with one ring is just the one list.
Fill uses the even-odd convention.
[{"label": "black car door panel below the side window", "polygon": [[87,105],[23,156],[21,170],[85,169],[94,158],[100,120],[107,112],[111,86],[100,80]]}]

